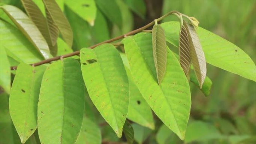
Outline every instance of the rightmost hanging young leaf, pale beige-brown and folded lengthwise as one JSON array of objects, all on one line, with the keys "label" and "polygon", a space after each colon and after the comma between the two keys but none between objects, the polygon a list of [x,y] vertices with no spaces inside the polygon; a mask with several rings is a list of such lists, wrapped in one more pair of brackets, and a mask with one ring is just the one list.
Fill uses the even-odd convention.
[{"label": "rightmost hanging young leaf, pale beige-brown and folded lengthwise", "polygon": [[199,83],[200,88],[202,88],[202,84],[204,83],[204,79],[206,76],[206,61],[204,52],[202,50],[201,43],[196,34],[195,28],[193,25],[188,24],[189,37],[190,37],[190,56],[192,65],[194,67],[194,71],[196,73],[196,77]]}]

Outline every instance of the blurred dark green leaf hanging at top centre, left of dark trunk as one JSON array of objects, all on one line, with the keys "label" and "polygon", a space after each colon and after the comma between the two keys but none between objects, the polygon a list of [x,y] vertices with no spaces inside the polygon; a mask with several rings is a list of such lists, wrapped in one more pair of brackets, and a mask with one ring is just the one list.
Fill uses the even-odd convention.
[{"label": "blurred dark green leaf hanging at top centre, left of dark trunk", "polygon": [[111,22],[118,25],[119,28],[122,27],[121,10],[115,0],[95,0],[95,2],[101,12],[103,12]]}]

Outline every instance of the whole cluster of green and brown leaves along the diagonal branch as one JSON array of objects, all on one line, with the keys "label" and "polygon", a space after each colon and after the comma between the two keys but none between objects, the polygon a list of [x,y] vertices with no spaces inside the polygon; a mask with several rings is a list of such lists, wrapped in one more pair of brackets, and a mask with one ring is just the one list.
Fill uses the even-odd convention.
[{"label": "whole cluster of green and brown leaves along the diagonal branch", "polygon": [[[198,135],[193,136],[198,125],[211,128],[207,123],[191,123],[185,138],[191,108],[189,80],[206,95],[210,91],[205,62],[256,81],[255,64],[243,50],[200,27],[196,36],[193,25],[186,21],[181,27],[179,22],[155,24],[152,34],[124,38],[121,43],[125,54],[112,44],[88,49],[83,48],[88,47],[85,42],[77,41],[82,33],[73,28],[80,25],[72,20],[76,17],[92,25],[96,43],[110,37],[104,16],[114,24],[113,30],[127,32],[130,27],[122,16],[127,11],[120,6],[129,6],[141,16],[144,12],[132,0],[21,1],[27,14],[15,6],[0,7],[0,86],[6,92],[0,97],[4,117],[1,123],[7,123],[1,133],[16,137],[13,123],[21,143],[101,143],[88,94],[116,135],[120,138],[124,132],[128,143],[133,143],[134,138],[143,142],[146,136],[137,134],[145,129],[141,126],[155,129],[151,109],[164,123],[156,135],[158,143],[165,143],[170,135],[175,137],[171,131],[190,142],[198,139]],[[62,12],[64,7],[67,18]],[[116,9],[120,10],[117,15]],[[100,27],[101,22],[106,25]],[[165,41],[179,47],[179,55]],[[28,65],[80,48],[80,56],[38,67]],[[191,62],[195,73],[189,75]],[[17,64],[17,70],[10,71],[10,66]],[[13,80],[11,73],[15,75]],[[134,123],[130,125],[127,119]],[[217,133],[214,128],[210,132]],[[207,137],[209,133],[202,134]],[[0,142],[18,143],[13,137],[3,137]]]}]

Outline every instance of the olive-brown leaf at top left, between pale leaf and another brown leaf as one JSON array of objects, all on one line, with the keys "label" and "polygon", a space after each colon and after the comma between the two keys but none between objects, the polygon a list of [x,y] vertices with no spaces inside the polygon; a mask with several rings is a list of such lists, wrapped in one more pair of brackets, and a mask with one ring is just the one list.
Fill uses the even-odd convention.
[{"label": "olive-brown leaf at top left, between pale leaf and another brown leaf", "polygon": [[45,38],[46,42],[48,43],[51,54],[55,56],[57,54],[57,45],[52,43],[50,31],[45,16],[33,0],[21,0],[21,2],[28,16],[37,26],[37,28]]}]

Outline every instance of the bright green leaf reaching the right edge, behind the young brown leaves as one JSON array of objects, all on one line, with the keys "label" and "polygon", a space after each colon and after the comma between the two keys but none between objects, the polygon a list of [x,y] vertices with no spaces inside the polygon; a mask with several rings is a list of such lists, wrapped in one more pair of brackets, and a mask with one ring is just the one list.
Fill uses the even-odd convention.
[{"label": "bright green leaf reaching the right edge, behind the young brown leaves", "polygon": [[[161,25],[165,30],[166,40],[178,46],[179,22]],[[256,66],[242,49],[203,28],[198,27],[196,32],[209,64],[256,82]]]}]

